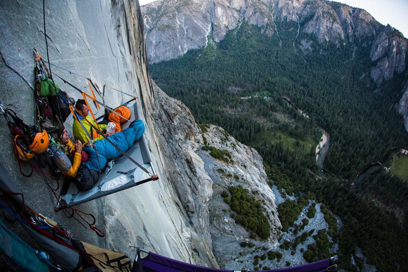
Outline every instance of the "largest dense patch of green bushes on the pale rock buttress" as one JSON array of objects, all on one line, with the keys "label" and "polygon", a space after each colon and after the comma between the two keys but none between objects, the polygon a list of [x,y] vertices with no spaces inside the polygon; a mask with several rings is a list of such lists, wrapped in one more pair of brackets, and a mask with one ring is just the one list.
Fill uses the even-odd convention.
[{"label": "largest dense patch of green bushes on the pale rock buttress", "polygon": [[231,186],[228,190],[231,192],[231,210],[237,213],[235,222],[267,239],[271,235],[271,225],[262,212],[261,203],[250,197],[241,185]]}]

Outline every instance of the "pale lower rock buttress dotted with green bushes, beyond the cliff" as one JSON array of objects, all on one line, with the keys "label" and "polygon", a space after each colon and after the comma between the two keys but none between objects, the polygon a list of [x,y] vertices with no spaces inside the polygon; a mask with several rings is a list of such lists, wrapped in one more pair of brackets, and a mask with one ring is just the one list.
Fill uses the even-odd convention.
[{"label": "pale lower rock buttress dotted with green bushes, beyond the cliff", "polygon": [[[255,149],[237,142],[218,126],[211,125],[206,128],[202,132],[202,137],[207,139],[208,146],[227,150],[231,154],[231,159],[227,163],[213,158],[208,151],[197,150],[196,152],[204,163],[204,170],[213,181],[213,195],[209,202],[209,210],[215,258],[224,269],[241,268],[242,262],[235,261],[237,257],[248,260],[251,264],[253,261],[252,248],[245,250],[240,246],[241,242],[251,241],[257,247],[269,250],[275,250],[279,246],[282,225],[278,218],[275,194],[268,186],[262,157]],[[224,202],[224,197],[221,195],[223,191],[228,191],[230,186],[242,186],[248,190],[251,197],[262,203],[264,214],[271,224],[271,236],[268,239],[262,241],[248,239],[250,232],[235,222],[230,206]]]}]

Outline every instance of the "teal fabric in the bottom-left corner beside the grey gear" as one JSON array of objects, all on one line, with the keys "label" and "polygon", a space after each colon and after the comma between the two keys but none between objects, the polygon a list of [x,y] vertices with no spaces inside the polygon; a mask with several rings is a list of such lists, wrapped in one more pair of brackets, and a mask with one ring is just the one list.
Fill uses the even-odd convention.
[{"label": "teal fabric in the bottom-left corner beside the grey gear", "polygon": [[0,250],[14,263],[28,271],[49,271],[48,265],[39,259],[35,250],[9,230],[2,221],[0,221]]}]

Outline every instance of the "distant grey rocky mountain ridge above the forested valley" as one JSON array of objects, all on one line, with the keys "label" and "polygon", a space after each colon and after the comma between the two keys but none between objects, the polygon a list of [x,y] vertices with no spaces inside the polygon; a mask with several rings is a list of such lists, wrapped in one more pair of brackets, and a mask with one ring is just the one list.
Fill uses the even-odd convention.
[{"label": "distant grey rocky mountain ridge above the forested valley", "polygon": [[215,42],[242,20],[279,35],[275,22],[290,20],[298,30],[315,33],[320,42],[362,44],[373,61],[377,84],[406,69],[407,40],[384,27],[363,9],[324,0],[158,0],[142,6],[150,62],[176,58]]}]

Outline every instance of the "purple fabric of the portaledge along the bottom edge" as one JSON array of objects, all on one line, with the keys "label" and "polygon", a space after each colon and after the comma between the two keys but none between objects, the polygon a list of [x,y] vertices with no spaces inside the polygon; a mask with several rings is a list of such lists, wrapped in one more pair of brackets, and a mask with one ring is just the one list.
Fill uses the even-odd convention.
[{"label": "purple fabric of the portaledge along the bottom edge", "polygon": [[[233,272],[234,270],[223,270],[215,268],[206,268],[203,266],[193,265],[190,263],[183,263],[181,261],[176,261],[153,252],[150,252],[142,260],[142,267],[144,272]],[[299,265],[295,267],[266,270],[267,272],[322,272],[327,271],[330,266],[330,259],[325,259],[322,261],[317,261],[315,263],[307,263],[304,265]],[[146,269],[146,270],[145,270]],[[137,270],[139,272],[139,268]],[[235,270],[241,271],[241,270]],[[335,271],[335,270],[334,270]]]}]

